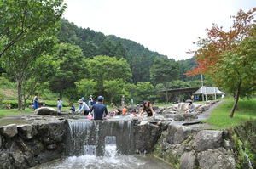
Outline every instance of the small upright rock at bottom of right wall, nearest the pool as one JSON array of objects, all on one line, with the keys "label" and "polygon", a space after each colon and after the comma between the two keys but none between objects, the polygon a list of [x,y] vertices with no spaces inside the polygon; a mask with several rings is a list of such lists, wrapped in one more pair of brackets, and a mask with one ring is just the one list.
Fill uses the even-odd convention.
[{"label": "small upright rock at bottom of right wall, nearest the pool", "polygon": [[193,169],[195,166],[195,152],[185,152],[179,162],[180,169]]}]

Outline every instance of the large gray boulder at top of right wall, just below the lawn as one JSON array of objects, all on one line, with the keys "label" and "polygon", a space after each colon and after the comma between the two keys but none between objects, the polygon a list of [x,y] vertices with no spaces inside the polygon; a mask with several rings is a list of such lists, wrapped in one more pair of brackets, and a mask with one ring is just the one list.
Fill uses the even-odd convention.
[{"label": "large gray boulder at top of right wall, just below the lawn", "polygon": [[222,136],[222,131],[202,130],[196,134],[193,146],[197,151],[218,149],[223,143]]}]

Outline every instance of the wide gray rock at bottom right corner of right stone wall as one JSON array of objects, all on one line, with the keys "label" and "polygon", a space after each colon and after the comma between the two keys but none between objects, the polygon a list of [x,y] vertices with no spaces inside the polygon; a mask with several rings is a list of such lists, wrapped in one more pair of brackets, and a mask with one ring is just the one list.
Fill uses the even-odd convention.
[{"label": "wide gray rock at bottom right corner of right stone wall", "polygon": [[236,168],[235,159],[229,155],[224,155],[221,151],[202,151],[198,153],[197,159],[201,168]]}]

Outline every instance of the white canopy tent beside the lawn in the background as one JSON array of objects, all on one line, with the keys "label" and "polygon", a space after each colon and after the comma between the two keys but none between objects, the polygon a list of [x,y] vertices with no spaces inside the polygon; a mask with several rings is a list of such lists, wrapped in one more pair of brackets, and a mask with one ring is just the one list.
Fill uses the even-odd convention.
[{"label": "white canopy tent beside the lawn in the background", "polygon": [[216,99],[216,95],[224,95],[225,93],[218,90],[218,87],[200,87],[197,91],[195,91],[194,95],[196,94],[202,94],[202,97],[206,95],[207,101],[207,95],[214,95]]}]

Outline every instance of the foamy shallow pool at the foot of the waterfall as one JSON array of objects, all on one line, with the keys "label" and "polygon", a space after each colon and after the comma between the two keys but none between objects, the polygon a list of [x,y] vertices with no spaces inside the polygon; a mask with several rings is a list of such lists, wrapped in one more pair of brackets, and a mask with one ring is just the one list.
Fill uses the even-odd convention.
[{"label": "foamy shallow pool at the foot of the waterfall", "polygon": [[33,169],[81,169],[81,168],[104,168],[104,169],[174,169],[165,161],[150,155],[119,155],[119,156],[95,156],[82,155],[71,156],[60,161],[48,162]]}]

